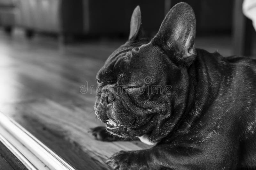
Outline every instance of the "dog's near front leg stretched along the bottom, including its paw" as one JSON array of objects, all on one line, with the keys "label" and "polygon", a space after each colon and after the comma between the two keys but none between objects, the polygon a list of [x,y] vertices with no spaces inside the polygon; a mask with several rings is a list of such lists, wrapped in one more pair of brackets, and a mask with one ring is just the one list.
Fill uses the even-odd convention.
[{"label": "dog's near front leg stretched along the bottom, including its paw", "polygon": [[[213,147],[214,148],[214,147]],[[156,145],[150,149],[138,151],[120,151],[107,160],[113,169],[236,169],[237,157],[234,151]],[[233,156],[231,156],[231,155]]]}]

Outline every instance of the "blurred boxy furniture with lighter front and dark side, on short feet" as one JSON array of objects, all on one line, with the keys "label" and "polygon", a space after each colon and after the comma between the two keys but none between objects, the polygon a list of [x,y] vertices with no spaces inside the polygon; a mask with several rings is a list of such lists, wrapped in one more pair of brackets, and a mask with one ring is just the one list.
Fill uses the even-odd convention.
[{"label": "blurred boxy furniture with lighter front and dark side, on short feet", "polygon": [[17,0],[16,25],[31,37],[36,32],[60,36],[83,32],[82,0]]}]

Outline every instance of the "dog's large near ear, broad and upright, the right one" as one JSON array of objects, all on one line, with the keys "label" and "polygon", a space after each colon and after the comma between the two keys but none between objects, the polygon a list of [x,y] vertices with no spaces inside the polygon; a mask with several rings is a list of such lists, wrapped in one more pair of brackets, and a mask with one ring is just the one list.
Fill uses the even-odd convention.
[{"label": "dog's large near ear, broad and upright, the right one", "polygon": [[181,2],[167,13],[153,41],[168,52],[174,52],[174,59],[189,66],[196,58],[194,39],[196,17],[187,3]]}]

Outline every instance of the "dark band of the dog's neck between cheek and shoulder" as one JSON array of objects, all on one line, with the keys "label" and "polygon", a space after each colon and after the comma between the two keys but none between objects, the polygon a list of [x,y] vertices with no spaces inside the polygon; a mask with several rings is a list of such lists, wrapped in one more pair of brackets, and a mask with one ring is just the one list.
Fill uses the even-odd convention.
[{"label": "dark band of the dog's neck between cheek and shoulder", "polygon": [[[221,77],[212,79],[214,77],[212,75],[220,75],[219,70],[215,68],[218,67],[216,59],[218,58],[219,60],[221,57],[219,53],[209,53],[205,50],[197,49],[196,60],[188,69],[190,87],[186,111],[176,125],[176,129],[170,133],[169,140],[180,134],[188,133],[212,104],[218,94],[220,86],[216,86],[216,84],[220,85]],[[208,67],[207,63],[215,63],[216,67]],[[211,70],[207,70],[208,68],[211,68]]]}]

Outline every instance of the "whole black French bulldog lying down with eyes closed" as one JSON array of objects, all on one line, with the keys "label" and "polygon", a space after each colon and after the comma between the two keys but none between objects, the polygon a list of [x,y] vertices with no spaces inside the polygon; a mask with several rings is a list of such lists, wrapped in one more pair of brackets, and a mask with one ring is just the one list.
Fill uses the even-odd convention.
[{"label": "whole black French bulldog lying down with eyes closed", "polygon": [[[196,49],[195,34],[186,3],[169,11],[151,40],[135,8],[129,40],[97,74],[95,111],[111,134],[156,145],[117,152],[109,166],[256,169],[256,60]],[[103,128],[93,134],[116,140]]]}]

